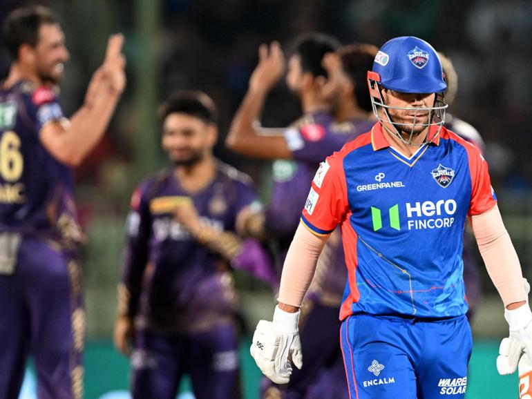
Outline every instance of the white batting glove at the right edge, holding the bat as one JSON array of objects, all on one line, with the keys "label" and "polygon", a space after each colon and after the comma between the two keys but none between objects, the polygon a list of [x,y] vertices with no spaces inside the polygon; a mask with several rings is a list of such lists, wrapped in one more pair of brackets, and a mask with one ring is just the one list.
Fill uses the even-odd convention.
[{"label": "white batting glove at the right edge, holding the bat", "polygon": [[515,372],[523,351],[532,356],[532,312],[528,300],[530,284],[526,278],[523,279],[523,283],[527,295],[526,304],[511,311],[504,309],[504,318],[509,324],[510,336],[504,338],[499,347],[497,371],[501,376]]}]

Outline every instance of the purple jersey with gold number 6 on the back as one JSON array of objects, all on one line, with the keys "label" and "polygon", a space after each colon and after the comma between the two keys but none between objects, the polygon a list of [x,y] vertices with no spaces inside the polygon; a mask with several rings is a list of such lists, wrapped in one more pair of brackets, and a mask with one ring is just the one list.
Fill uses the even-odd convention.
[{"label": "purple jersey with gold number 6 on the back", "polygon": [[52,88],[21,81],[0,88],[0,231],[79,241],[73,172],[41,144],[39,133],[64,115]]}]

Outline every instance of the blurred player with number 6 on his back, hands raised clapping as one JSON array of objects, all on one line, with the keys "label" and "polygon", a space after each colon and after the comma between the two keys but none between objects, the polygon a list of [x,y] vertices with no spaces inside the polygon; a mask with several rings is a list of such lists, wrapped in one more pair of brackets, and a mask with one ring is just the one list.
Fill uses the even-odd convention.
[{"label": "blurred player with number 6 on his back, hands raised clapping", "polygon": [[124,90],[123,37],[109,39],[70,121],[55,87],[69,54],[53,12],[13,11],[3,38],[13,61],[0,88],[0,398],[17,398],[28,352],[40,399],[82,398],[85,315],[71,166],[102,137]]}]

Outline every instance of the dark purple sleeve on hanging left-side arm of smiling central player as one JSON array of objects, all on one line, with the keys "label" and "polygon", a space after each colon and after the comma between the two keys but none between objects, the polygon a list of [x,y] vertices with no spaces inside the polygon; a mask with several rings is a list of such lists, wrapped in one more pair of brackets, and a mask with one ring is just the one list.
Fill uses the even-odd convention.
[{"label": "dark purple sleeve on hanging left-side arm of smiling central player", "polygon": [[151,234],[149,201],[142,195],[141,188],[137,188],[131,197],[131,211],[127,218],[126,231],[122,283],[129,293],[126,315],[133,318],[138,311],[142,276],[149,259]]}]

